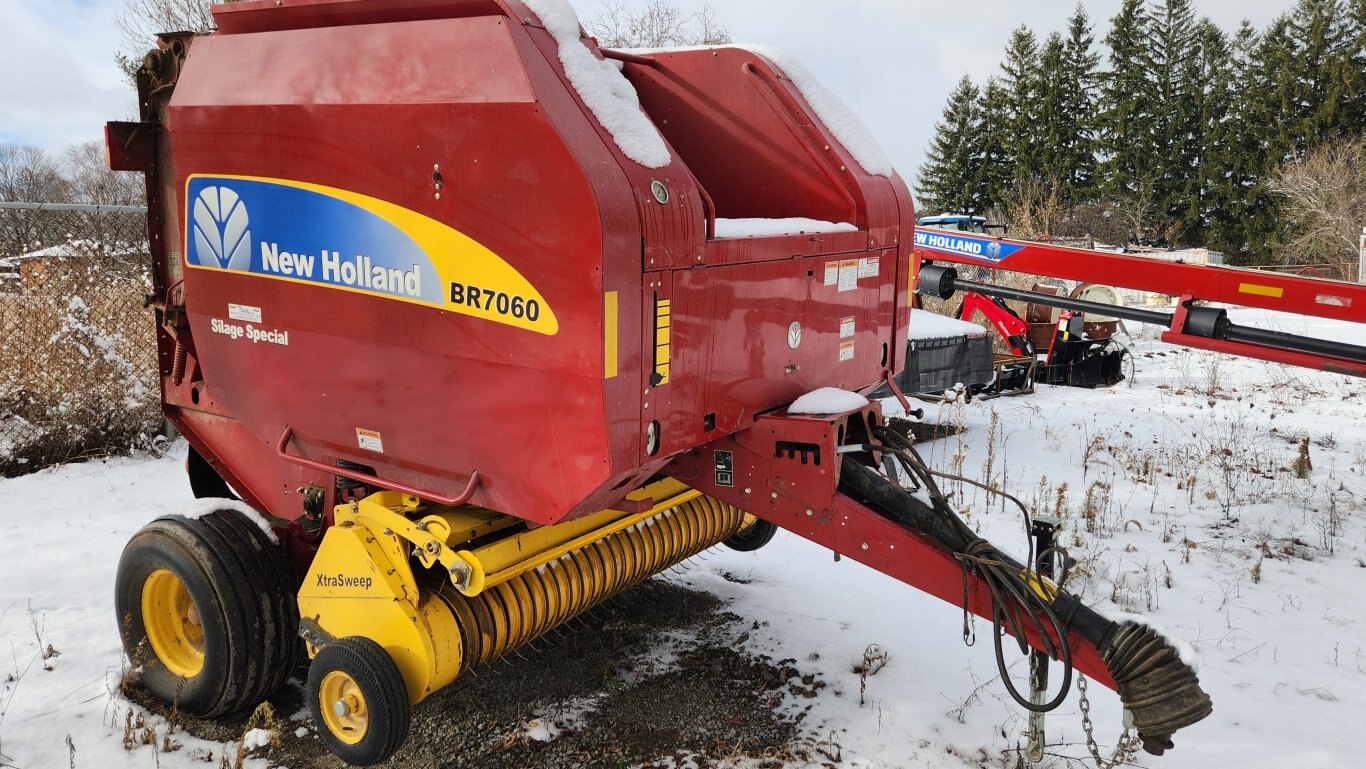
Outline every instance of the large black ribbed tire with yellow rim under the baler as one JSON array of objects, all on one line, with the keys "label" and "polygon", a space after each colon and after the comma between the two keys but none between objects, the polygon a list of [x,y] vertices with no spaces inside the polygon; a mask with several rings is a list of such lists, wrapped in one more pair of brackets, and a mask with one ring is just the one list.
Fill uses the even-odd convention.
[{"label": "large black ribbed tire with yellow rim under the baler", "polygon": [[[193,601],[189,621],[202,657],[189,673],[168,667],[173,656],[158,654],[143,616],[153,585],[176,581]],[[301,656],[296,590],[284,550],[246,515],[220,509],[198,519],[158,518],[133,535],[119,559],[115,606],[123,650],[142,686],[184,713],[210,717],[255,708],[284,684]]]}]

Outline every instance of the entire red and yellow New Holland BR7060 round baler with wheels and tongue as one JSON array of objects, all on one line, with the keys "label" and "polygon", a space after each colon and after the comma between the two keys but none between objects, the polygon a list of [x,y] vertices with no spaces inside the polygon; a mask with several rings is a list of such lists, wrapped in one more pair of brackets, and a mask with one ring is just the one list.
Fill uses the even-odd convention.
[{"label": "entire red and yellow New Holland BR7060 round baler with wheels and tongue", "polygon": [[858,395],[902,367],[914,205],[799,64],[600,51],[563,0],[213,14],[108,128],[205,497],[119,564],[152,694],[251,708],[306,652],[324,743],[374,764],[467,671],[780,526],[1117,688],[1154,753],[1210,712],[1164,638],[977,538]]}]

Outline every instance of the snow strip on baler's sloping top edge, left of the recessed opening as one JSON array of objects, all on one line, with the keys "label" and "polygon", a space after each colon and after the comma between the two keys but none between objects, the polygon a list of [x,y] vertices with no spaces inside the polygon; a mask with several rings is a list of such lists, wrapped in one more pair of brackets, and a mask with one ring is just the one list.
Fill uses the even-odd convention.
[{"label": "snow strip on baler's sloping top edge, left of the recessed opening", "polygon": [[560,49],[570,85],[622,153],[646,168],[664,168],[673,158],[664,137],[641,109],[641,98],[622,70],[598,59],[579,37],[579,16],[568,0],[523,0],[541,18]]}]

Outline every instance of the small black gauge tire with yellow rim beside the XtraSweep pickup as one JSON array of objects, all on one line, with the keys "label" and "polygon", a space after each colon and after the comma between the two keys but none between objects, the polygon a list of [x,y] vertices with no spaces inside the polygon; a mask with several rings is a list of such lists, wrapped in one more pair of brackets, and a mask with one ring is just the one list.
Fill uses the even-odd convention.
[{"label": "small black gauge tire with yellow rim beside the XtraSweep pickup", "polygon": [[[329,673],[348,676],[363,695],[365,727],[357,742],[351,742],[354,735],[348,740],[333,732],[343,714],[335,710],[335,702],[322,702],[322,687]],[[352,635],[324,646],[309,667],[307,697],[322,744],[347,764],[378,764],[393,755],[408,736],[408,688],[403,673],[388,652],[369,638]],[[324,708],[336,717],[324,717]]]}]

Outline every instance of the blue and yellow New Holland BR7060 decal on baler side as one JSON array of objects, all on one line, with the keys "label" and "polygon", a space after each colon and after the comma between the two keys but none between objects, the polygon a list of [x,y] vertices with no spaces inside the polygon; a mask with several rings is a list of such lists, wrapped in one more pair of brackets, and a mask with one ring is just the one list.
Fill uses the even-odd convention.
[{"label": "blue and yellow New Holland BR7060 decal on baler side", "polygon": [[545,298],[512,265],[421,213],[335,187],[191,176],[191,268],[311,283],[555,335]]}]

